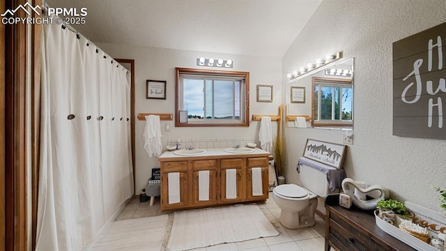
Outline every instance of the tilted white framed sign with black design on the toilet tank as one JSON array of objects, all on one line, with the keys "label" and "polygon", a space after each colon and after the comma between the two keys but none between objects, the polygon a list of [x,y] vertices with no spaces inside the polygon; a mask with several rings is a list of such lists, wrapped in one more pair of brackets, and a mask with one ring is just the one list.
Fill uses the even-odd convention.
[{"label": "tilted white framed sign with black design on the toilet tank", "polygon": [[315,160],[330,167],[341,169],[345,153],[345,145],[307,139],[303,155],[310,160]]}]

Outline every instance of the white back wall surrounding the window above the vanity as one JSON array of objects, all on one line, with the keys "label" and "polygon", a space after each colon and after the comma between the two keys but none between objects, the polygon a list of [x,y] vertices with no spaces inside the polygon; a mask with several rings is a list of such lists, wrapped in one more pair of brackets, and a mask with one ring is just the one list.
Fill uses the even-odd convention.
[{"label": "white back wall surrounding the window above the vanity", "polygon": [[[175,68],[197,68],[197,58],[215,57],[232,59],[232,70],[247,71],[250,73],[249,105],[251,114],[277,114],[277,108],[282,103],[282,62],[277,59],[254,56],[214,54],[209,52],[192,52],[182,50],[167,50],[153,47],[135,47],[130,45],[116,45],[97,43],[101,50],[110,56],[119,59],[134,59],[135,63],[135,113],[171,113],[175,114]],[[218,68],[212,68],[217,70]],[[146,99],[146,79],[166,80],[166,100]],[[256,102],[256,85],[272,84],[274,91],[273,102]],[[171,130],[166,132],[164,126],[169,123]],[[174,121],[161,121],[162,142],[165,149],[168,140],[183,139],[210,139],[210,138],[246,138],[252,137],[258,142],[259,122],[251,121],[249,128],[175,128]],[[135,193],[139,195],[145,188],[153,167],[160,167],[157,158],[148,158],[143,149],[142,134],[144,121],[135,123],[136,137],[136,178]],[[277,125],[273,123],[273,134]]]}]

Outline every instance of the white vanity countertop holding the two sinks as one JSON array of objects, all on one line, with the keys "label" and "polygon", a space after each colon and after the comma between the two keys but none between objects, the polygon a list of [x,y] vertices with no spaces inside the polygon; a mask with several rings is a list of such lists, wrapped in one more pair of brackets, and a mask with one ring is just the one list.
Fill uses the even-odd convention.
[{"label": "white vanity countertop holding the two sinks", "polygon": [[176,155],[174,151],[165,151],[158,157],[160,161],[176,161],[176,160],[197,160],[197,159],[208,159],[208,158],[241,158],[241,157],[265,157],[271,155],[267,151],[262,149],[254,149],[251,153],[228,153],[224,149],[203,149],[206,150],[205,153],[200,155]]}]

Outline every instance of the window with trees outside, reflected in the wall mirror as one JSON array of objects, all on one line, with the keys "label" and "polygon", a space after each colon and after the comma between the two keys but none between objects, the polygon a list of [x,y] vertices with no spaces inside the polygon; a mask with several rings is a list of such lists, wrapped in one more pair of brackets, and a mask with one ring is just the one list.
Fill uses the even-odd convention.
[{"label": "window with trees outside, reflected in the wall mirror", "polygon": [[313,126],[353,126],[351,79],[313,77]]}]

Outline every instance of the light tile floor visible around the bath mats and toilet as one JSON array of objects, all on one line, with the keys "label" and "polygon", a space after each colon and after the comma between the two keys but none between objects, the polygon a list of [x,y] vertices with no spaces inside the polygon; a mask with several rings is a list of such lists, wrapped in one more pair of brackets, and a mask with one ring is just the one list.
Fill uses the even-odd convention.
[{"label": "light tile floor visible around the bath mats and toilet", "polygon": [[[275,204],[272,195],[270,195],[270,199],[266,200],[265,204],[259,204],[259,208],[265,213],[266,218],[270,220],[272,225],[275,225],[278,229],[279,236],[257,238],[238,243],[225,243],[208,248],[198,248],[194,251],[317,251],[324,249],[325,223],[322,218],[316,215],[316,225],[311,228],[286,229],[278,220],[280,208]],[[167,213],[169,212],[161,212],[159,197],[155,199],[153,206],[149,206],[148,201],[140,203],[139,198],[133,198],[115,220],[146,218]]]}]

